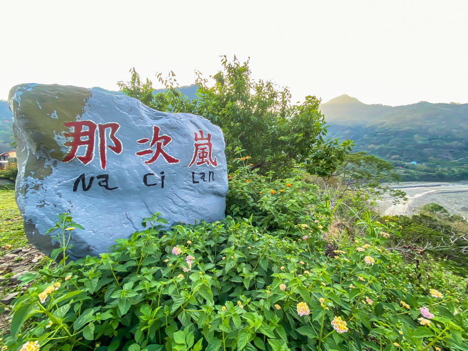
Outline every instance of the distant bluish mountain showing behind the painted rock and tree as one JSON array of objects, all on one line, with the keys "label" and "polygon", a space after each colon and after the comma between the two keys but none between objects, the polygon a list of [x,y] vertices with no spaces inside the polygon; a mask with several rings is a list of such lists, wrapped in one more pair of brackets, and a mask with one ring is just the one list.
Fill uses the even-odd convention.
[{"label": "distant bluish mountain showing behind the painted rock and tree", "polygon": [[[98,92],[112,94],[112,95],[123,95],[120,91],[112,91],[106,90],[99,87],[91,88]],[[197,85],[192,84],[189,86],[180,87],[180,92],[182,95],[187,96],[189,99],[194,99],[195,93],[197,93]],[[155,90],[153,92],[154,95],[158,93],[164,93],[165,89]],[[11,134],[13,134],[13,129],[11,128],[11,124],[13,122],[13,116],[11,114],[10,109],[8,108],[8,101],[0,100],[0,154],[6,151],[11,150],[10,143],[12,142]]]}]

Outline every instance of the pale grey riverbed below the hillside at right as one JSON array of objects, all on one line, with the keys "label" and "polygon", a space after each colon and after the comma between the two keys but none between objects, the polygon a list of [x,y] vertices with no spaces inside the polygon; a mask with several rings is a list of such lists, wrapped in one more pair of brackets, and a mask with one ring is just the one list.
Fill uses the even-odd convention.
[{"label": "pale grey riverbed below the hillside at right", "polygon": [[417,213],[421,206],[436,202],[445,207],[451,215],[459,214],[468,218],[468,182],[402,182],[392,185],[391,188],[406,192],[408,200],[397,205],[392,204],[391,199],[384,201],[381,210],[386,215],[411,216]]}]

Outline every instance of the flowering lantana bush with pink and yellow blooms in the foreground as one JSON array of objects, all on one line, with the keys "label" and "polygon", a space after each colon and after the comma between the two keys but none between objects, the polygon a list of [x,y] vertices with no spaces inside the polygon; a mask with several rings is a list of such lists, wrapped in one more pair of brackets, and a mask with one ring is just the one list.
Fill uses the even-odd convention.
[{"label": "flowering lantana bush with pink and yellow blooms in the foreground", "polygon": [[25,275],[32,287],[2,342],[15,351],[26,342],[61,351],[468,350],[465,282],[420,280],[420,267],[385,248],[392,224],[361,221],[364,236],[325,241],[332,211],[301,177],[271,180],[241,166],[226,220],[162,232],[155,214],[110,253]]}]

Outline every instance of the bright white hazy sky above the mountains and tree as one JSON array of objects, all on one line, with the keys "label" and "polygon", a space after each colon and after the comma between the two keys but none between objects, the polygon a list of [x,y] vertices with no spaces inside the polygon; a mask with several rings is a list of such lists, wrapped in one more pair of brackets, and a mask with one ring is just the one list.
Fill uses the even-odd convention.
[{"label": "bright white hazy sky above the mountains and tree", "polygon": [[468,1],[2,1],[0,99],[20,83],[180,85],[250,57],[294,100],[468,102]]}]

